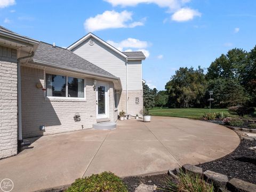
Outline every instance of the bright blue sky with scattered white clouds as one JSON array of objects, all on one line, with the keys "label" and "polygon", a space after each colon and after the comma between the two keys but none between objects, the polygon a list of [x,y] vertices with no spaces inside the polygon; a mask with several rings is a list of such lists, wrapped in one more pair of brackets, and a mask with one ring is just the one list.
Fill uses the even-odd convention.
[{"label": "bright blue sky with scattered white clouds", "polygon": [[92,31],[142,50],[143,79],[158,90],[179,67],[207,68],[229,49],[256,45],[255,0],[0,0],[0,23],[62,47]]}]

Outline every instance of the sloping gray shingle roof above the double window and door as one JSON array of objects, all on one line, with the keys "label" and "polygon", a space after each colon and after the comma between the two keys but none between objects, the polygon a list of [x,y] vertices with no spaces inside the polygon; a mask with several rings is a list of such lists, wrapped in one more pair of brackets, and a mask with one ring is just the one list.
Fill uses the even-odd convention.
[{"label": "sloping gray shingle roof above the double window and door", "polygon": [[78,55],[67,49],[63,49],[58,46],[54,47],[53,45],[44,42],[39,43],[33,60],[50,62],[54,65],[73,68],[77,70],[83,70],[85,73],[89,72],[98,75],[117,78],[116,76],[108,73],[108,71],[101,69],[98,66],[95,66],[91,62],[79,57]]}]

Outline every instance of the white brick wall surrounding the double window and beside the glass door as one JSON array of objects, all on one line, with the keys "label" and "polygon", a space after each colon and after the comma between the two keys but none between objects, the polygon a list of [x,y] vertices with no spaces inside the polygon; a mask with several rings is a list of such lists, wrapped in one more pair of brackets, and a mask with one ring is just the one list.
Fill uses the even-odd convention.
[{"label": "white brick wall surrounding the double window and beside the glass door", "polygon": [[[45,98],[45,92],[36,87],[36,83],[38,82],[41,82],[44,86],[44,70],[22,67],[21,100],[23,137],[92,128],[92,124],[96,123],[96,93],[93,89],[93,81],[93,79],[89,78],[85,81],[86,101],[49,100]],[[111,121],[114,121],[113,83],[109,83],[109,99],[109,117]],[[80,122],[74,121],[73,117],[76,113],[81,115]],[[46,126],[45,131],[39,130],[40,125]]]}]

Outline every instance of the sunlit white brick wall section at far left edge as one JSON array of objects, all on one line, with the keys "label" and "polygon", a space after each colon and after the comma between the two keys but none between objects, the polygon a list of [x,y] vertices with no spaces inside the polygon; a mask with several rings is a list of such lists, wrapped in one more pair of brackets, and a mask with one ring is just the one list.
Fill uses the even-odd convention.
[{"label": "sunlit white brick wall section at far left edge", "polygon": [[0,46],[0,159],[17,154],[17,51]]}]

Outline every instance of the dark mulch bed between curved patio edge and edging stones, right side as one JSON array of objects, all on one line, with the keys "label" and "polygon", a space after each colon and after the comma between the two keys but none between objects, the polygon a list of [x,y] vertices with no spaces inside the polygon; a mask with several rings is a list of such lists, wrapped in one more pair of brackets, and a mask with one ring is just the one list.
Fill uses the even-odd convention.
[{"label": "dark mulch bed between curved patio edge and edging stones, right side", "polygon": [[256,154],[249,147],[256,146],[256,141],[242,140],[229,155],[215,161],[199,164],[204,171],[222,173],[229,179],[237,178],[256,184]]}]

